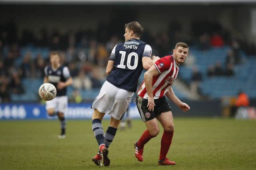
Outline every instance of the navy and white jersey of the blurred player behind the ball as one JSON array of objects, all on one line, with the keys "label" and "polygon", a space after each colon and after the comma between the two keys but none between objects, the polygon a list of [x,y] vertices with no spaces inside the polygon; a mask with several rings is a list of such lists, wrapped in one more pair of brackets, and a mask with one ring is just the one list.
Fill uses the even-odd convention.
[{"label": "navy and white jersey of the blurred player behind the ball", "polygon": [[58,82],[66,82],[70,77],[70,72],[68,67],[60,66],[57,69],[53,69],[52,66],[46,66],[44,68],[44,74],[48,78],[49,83],[53,84],[57,89],[56,96],[66,96],[67,88],[62,88],[61,90],[57,88]]}]

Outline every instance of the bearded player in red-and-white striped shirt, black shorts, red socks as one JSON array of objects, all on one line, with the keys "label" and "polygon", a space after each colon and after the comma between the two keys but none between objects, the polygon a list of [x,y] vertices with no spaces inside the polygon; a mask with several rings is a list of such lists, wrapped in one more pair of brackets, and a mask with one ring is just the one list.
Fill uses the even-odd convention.
[{"label": "bearded player in red-and-white striped shirt, black shorts, red socks", "polygon": [[178,76],[179,65],[184,63],[187,55],[188,45],[186,43],[177,43],[173,50],[173,55],[159,59],[144,74],[144,82],[138,90],[138,96],[136,98],[140,116],[147,127],[147,130],[144,131],[140,139],[134,144],[135,156],[139,161],[143,161],[144,145],[159,133],[158,122],[156,120],[158,119],[164,128],[158,164],[175,164],[175,162],[166,158],[166,154],[172,143],[174,123],[172,111],[165,96],[183,111],[190,109],[186,103],[181,102],[175,96],[172,90],[172,84]]}]

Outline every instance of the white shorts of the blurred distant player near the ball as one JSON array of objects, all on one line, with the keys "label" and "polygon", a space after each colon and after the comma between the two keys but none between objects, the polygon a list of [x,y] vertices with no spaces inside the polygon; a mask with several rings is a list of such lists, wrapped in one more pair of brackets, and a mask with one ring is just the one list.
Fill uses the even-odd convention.
[{"label": "white shorts of the blurred distant player near the ball", "polygon": [[68,111],[68,96],[56,96],[54,99],[46,101],[46,110],[52,108],[65,114]]}]

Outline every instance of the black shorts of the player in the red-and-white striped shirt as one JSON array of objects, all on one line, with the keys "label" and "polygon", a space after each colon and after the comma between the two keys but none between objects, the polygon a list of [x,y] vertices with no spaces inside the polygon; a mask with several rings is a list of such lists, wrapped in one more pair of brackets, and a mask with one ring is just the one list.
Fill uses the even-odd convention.
[{"label": "black shorts of the player in the red-and-white striped shirt", "polygon": [[151,119],[154,119],[157,115],[160,115],[161,113],[172,111],[165,97],[155,99],[154,102],[156,105],[154,107],[154,111],[148,111],[148,100],[137,95],[136,105],[142,121],[146,122]]}]

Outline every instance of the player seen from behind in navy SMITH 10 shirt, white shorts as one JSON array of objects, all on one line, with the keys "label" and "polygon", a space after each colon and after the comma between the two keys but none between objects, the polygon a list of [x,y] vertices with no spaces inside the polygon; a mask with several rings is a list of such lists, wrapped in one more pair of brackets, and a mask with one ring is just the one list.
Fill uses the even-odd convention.
[{"label": "player seen from behind in navy SMITH 10 shirt, white shorts", "polygon": [[[154,64],[150,45],[140,40],[143,33],[140,23],[133,21],[124,27],[125,42],[113,48],[106,68],[107,80],[92,103],[92,130],[100,148],[92,161],[97,165],[101,165],[103,159],[104,166],[109,166],[108,147],[116,135],[132,95],[136,92],[138,78],[143,68],[147,70]],[[101,121],[106,113],[111,118],[104,134]]]}]

